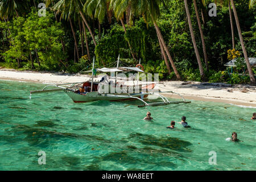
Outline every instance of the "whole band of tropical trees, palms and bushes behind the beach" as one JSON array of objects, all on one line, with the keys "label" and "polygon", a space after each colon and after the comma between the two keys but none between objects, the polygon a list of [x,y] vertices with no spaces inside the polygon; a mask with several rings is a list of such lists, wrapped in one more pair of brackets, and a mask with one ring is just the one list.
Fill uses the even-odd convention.
[{"label": "whole band of tropical trees, palms and bushes behind the beach", "polygon": [[0,66],[77,73],[120,55],[162,80],[255,85],[255,19],[255,0],[0,0]]}]

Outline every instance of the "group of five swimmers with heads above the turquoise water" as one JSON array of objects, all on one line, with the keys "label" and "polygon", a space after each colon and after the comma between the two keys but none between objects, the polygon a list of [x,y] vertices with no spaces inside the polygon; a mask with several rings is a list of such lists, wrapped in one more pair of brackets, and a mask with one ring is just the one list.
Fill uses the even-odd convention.
[{"label": "group of five swimmers with heads above the turquoise water", "polygon": [[[145,120],[153,119],[153,118],[151,118],[151,113],[149,111],[147,111],[147,116],[144,117],[144,119]],[[251,119],[256,119],[256,113],[253,113],[253,117],[251,117]],[[177,122],[177,123],[180,123],[183,127],[190,127],[188,125],[188,123],[186,122],[186,117],[185,116],[181,117],[181,122]],[[167,126],[166,128],[167,129],[175,129],[174,126],[175,126],[175,121],[171,121],[171,125]],[[233,142],[239,141],[239,139],[237,139],[237,133],[236,132],[232,133],[232,136],[231,136],[230,140],[232,140]]]}]

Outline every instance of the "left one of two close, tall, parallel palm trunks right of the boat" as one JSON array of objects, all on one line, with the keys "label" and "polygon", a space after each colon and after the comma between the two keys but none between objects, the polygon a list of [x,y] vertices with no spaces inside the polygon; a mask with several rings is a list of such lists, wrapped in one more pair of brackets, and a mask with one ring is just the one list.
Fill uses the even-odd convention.
[{"label": "left one of two close, tall, parallel palm trunks right of the boat", "polygon": [[187,13],[187,17],[188,17],[189,31],[190,31],[191,39],[192,39],[193,46],[194,46],[194,49],[195,49],[197,63],[199,65],[200,76],[201,76],[201,79],[204,80],[204,69],[203,69],[203,66],[202,66],[202,63],[201,63],[201,60],[200,60],[199,51],[198,51],[197,46],[196,46],[196,39],[195,39],[195,35],[194,35],[194,32],[193,32],[193,27],[192,27],[192,23],[191,23],[191,17],[190,17],[190,13],[189,13],[189,9],[188,9],[187,0],[184,0],[184,4],[185,4],[185,10],[186,10],[186,13]]}]

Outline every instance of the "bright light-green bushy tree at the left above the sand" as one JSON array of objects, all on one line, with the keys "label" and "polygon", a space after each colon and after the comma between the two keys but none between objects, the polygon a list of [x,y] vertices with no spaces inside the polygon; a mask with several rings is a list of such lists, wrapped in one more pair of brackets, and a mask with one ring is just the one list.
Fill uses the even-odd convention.
[{"label": "bright light-green bushy tree at the left above the sand", "polygon": [[[60,24],[55,22],[53,14],[39,17],[33,10],[26,18],[19,16],[3,27],[8,27],[11,32],[10,49],[2,53],[6,62],[15,62],[16,59],[28,62],[31,61],[31,54],[34,61],[40,61],[54,70],[59,67],[60,60],[66,57],[60,43],[64,31],[61,30]],[[32,69],[30,65],[28,63],[24,68]]]}]

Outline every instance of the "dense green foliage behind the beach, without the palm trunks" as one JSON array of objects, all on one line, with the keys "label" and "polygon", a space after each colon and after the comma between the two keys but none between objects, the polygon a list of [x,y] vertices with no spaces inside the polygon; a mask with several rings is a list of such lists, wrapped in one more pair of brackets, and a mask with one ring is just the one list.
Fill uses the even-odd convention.
[{"label": "dense green foliage behind the beach, without the palm trunks", "polygon": [[[97,46],[94,48],[92,36],[88,28],[85,28],[91,60],[80,59],[78,63],[74,61],[74,57],[77,57],[74,56],[75,41],[67,18],[69,15],[73,22],[79,55],[82,55],[83,39],[84,54],[87,55],[85,38],[80,35],[78,23],[78,18],[81,18],[79,10],[82,10],[82,3],[85,3],[85,1],[58,1],[54,7],[53,1],[47,1],[49,7],[53,8],[47,9],[46,17],[39,17],[37,10],[34,9],[34,3],[31,5],[31,2],[24,1],[24,7],[26,7],[24,9],[17,8],[18,6],[23,7],[23,1],[16,2],[18,6],[15,7],[15,10],[19,15],[16,15],[14,7],[2,10],[2,14],[0,12],[0,15],[5,14],[6,18],[5,22],[3,16],[1,16],[2,21],[0,21],[0,61],[5,61],[5,65],[9,65],[9,67],[18,68],[17,60],[19,59],[20,69],[34,69],[32,66],[34,65],[36,70],[62,71],[64,69],[71,73],[77,73],[84,68],[91,68],[93,56],[96,56],[96,67],[112,67],[113,64],[110,63],[116,62],[118,55],[120,55],[121,62],[125,65],[134,67],[141,59],[141,64],[146,72],[159,73],[160,79],[175,79],[174,71],[171,70],[171,74],[168,74],[166,64],[162,58],[159,40],[149,14],[151,12],[181,77],[184,80],[200,81],[198,63],[182,1],[173,0],[164,1],[164,3],[147,0],[86,1],[84,6],[84,10],[86,10],[84,11],[85,19],[88,20],[89,26],[93,31]],[[110,4],[107,5],[106,2]],[[136,2],[140,4],[137,5]],[[6,1],[6,3],[9,3],[9,1]],[[255,6],[249,9],[247,0],[237,0],[235,3],[247,55],[256,57]],[[21,4],[22,6],[20,6]],[[205,67],[195,9],[192,1],[188,2],[188,5],[196,44],[199,48],[203,67]],[[202,6],[201,1],[197,2],[210,68],[209,72],[205,72],[205,76],[209,78],[210,82],[247,82],[248,76],[238,75],[229,78],[226,72],[220,71],[225,70],[224,64],[229,61],[226,50],[232,49],[229,10],[226,4],[224,5],[220,6],[220,3],[218,3],[217,16],[209,17],[208,7]],[[108,11],[107,7],[114,8],[114,10],[112,12]],[[56,12],[53,13],[52,10],[60,12],[60,14],[56,14],[57,21],[61,20],[60,23],[56,22]],[[7,13],[7,11],[9,12]],[[111,15],[115,15],[115,17],[111,18]],[[120,18],[125,23],[126,33],[123,30]],[[101,29],[98,27],[98,20],[101,22]],[[235,49],[242,53],[235,23],[234,21]],[[100,32],[101,35],[99,36]],[[136,60],[131,58],[131,52],[134,53]],[[246,69],[246,65],[238,60],[234,71],[241,73],[243,69]]]}]

